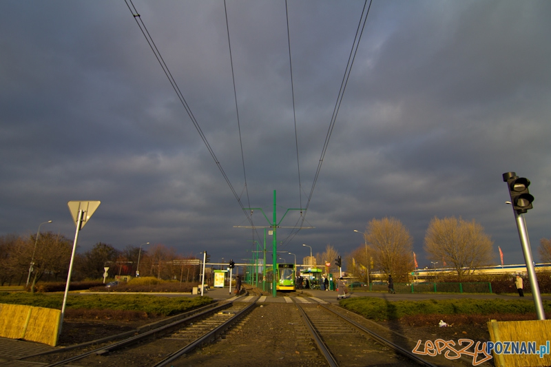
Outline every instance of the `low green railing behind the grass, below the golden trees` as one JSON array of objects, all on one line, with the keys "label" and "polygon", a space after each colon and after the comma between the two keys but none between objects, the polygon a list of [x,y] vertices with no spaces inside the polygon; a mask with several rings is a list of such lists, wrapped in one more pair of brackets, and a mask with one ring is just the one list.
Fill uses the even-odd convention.
[{"label": "low green railing behind the grass, below the golden trees", "polygon": [[[356,291],[367,291],[368,287],[355,288]],[[480,283],[395,283],[396,293],[492,293],[492,284]],[[388,284],[372,283],[369,291],[387,292]]]}]

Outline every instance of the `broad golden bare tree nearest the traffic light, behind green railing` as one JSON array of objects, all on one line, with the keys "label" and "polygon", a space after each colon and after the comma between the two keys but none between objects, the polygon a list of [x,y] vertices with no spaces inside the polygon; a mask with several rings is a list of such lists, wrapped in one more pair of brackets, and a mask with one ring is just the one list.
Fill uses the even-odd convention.
[{"label": "broad golden bare tree nearest the traffic light, behind green railing", "polygon": [[475,220],[433,218],[426,230],[424,249],[429,258],[452,266],[461,279],[462,275],[472,273],[479,266],[492,263],[493,244]]}]

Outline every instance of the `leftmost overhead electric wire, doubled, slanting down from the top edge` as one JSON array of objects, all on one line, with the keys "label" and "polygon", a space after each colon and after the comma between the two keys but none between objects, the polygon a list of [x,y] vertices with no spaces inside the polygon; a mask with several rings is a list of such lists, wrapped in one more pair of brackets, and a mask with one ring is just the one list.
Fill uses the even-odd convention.
[{"label": "leftmost overhead electric wire, doubled, slanting down from the top edge", "polygon": [[[209,150],[209,153],[211,154],[211,157],[213,158],[214,162],[216,163],[216,166],[218,167],[218,170],[220,170],[220,173],[224,177],[229,189],[233,193],[233,196],[238,201],[238,204],[240,205],[243,213],[245,213],[245,216],[247,216],[247,218],[249,218],[249,222],[250,222],[251,218],[249,217],[249,214],[247,213],[247,210],[245,209],[243,203],[241,202],[240,196],[238,196],[236,190],[233,189],[233,185],[231,185],[229,177],[227,176],[224,169],[222,168],[222,165],[220,164],[220,161],[218,160],[218,158],[216,158],[216,154],[214,154],[214,150],[212,149],[211,145],[209,144],[209,141],[207,140],[207,137],[202,132],[198,121],[196,120],[194,114],[191,112],[191,109],[189,108],[189,105],[187,105],[187,102],[185,101],[185,98],[184,98],[182,92],[180,92],[180,88],[178,87],[178,84],[176,83],[176,80],[172,76],[172,74],[169,70],[169,67],[165,63],[165,60],[163,59],[163,56],[161,56],[161,54],[160,54],[160,52],[159,52],[152,36],[151,36],[151,34],[149,34],[149,31],[147,30],[147,27],[145,26],[145,23],[141,19],[141,16],[140,16],[138,10],[134,6],[134,3],[132,3],[132,0],[124,0],[124,1],[126,3],[126,6],[128,7],[128,10],[130,10],[130,12],[132,13],[132,16],[134,17],[134,20],[136,21],[136,24],[140,28],[143,36],[145,37],[145,40],[147,41],[147,44],[149,45],[149,48],[151,48],[151,50],[154,53],[160,67],[163,69],[163,72],[165,73],[165,76],[167,76],[172,89],[174,90],[174,92],[176,92],[176,95],[178,96],[178,99],[180,100],[180,103],[183,105],[185,111],[187,112],[189,118],[191,119],[191,122],[194,124],[194,127],[196,128],[197,132],[199,133],[199,136],[201,137],[203,143],[205,143],[205,146]],[[130,5],[132,5],[132,7]],[[252,223],[251,223],[251,225],[252,225]]]}]

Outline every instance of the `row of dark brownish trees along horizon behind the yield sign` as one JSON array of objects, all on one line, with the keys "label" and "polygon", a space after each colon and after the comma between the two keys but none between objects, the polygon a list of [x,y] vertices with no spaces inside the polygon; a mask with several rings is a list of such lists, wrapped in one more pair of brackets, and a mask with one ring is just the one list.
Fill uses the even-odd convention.
[{"label": "row of dark brownish trees along horizon behind the yield sign", "polygon": [[[38,239],[36,235],[0,236],[0,285],[26,284],[29,278],[31,290],[34,290],[34,285],[40,280],[65,281],[72,245],[72,240],[51,231],[40,233]],[[134,276],[139,265],[141,276],[194,282],[199,279],[200,266],[174,261],[191,259],[195,257],[178,255],[175,249],[163,244],[149,245],[147,250],[132,245],[118,250],[111,244],[98,242],[89,251],[75,253],[71,279],[103,280],[105,267],[109,267],[107,277],[110,278],[115,275]]]}]

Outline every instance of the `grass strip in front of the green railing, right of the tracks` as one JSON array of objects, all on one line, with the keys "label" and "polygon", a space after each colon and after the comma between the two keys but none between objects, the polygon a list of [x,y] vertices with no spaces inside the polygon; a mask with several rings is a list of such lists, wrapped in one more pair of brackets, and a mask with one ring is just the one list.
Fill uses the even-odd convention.
[{"label": "grass strip in front of the green railing, right of the tracks", "polygon": [[[347,298],[340,305],[368,319],[393,320],[415,315],[492,315],[535,313],[529,300],[425,300],[386,301],[374,297]],[[551,302],[543,301],[551,314]]]}]

